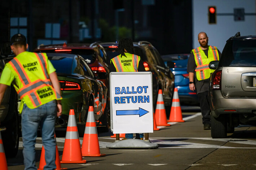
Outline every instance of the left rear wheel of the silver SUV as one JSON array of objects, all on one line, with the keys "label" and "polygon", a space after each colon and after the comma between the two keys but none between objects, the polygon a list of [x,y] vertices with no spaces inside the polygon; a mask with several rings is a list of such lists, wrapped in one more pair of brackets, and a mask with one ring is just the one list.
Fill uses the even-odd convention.
[{"label": "left rear wheel of the silver SUV", "polygon": [[217,118],[211,115],[211,136],[212,138],[227,137],[226,115],[220,115]]}]

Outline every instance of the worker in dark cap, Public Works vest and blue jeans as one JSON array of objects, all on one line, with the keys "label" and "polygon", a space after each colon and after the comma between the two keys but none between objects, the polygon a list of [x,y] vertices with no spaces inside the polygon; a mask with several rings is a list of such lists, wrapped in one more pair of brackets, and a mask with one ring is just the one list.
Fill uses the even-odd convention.
[{"label": "worker in dark cap, Public Works vest and blue jeans", "polygon": [[44,169],[56,169],[56,116],[62,112],[60,83],[56,70],[45,53],[27,52],[28,44],[22,34],[12,36],[11,46],[16,55],[5,64],[0,79],[0,101],[11,84],[21,98],[23,157],[26,169],[35,166],[35,142],[40,126],[45,149]]}]

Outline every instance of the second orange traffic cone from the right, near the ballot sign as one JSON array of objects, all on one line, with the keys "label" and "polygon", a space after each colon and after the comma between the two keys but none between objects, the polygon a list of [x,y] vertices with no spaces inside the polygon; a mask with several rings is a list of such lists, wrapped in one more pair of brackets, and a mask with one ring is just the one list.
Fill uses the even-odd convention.
[{"label": "second orange traffic cone from the right, near the ballot sign", "polygon": [[166,112],[164,107],[164,99],[162,96],[161,89],[159,89],[158,91],[155,118],[156,118],[157,126],[170,126],[170,124],[167,124]]}]

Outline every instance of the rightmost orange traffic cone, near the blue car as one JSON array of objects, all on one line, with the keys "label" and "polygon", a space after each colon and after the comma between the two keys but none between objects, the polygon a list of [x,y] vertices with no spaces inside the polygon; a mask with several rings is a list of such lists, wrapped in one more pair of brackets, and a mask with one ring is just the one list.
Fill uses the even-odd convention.
[{"label": "rightmost orange traffic cone, near the blue car", "polygon": [[182,120],[181,105],[179,104],[178,89],[174,89],[172,108],[168,122],[185,122]]}]

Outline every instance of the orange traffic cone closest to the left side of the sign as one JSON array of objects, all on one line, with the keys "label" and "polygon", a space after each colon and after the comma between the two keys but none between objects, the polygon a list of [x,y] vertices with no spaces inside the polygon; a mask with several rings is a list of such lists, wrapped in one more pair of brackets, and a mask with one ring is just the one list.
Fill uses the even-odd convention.
[{"label": "orange traffic cone closest to the left side of the sign", "polygon": [[82,143],[82,156],[106,156],[106,154],[100,153],[100,145],[92,106],[89,107],[87,115]]}]

